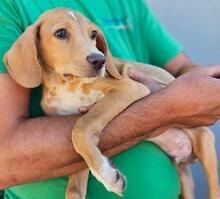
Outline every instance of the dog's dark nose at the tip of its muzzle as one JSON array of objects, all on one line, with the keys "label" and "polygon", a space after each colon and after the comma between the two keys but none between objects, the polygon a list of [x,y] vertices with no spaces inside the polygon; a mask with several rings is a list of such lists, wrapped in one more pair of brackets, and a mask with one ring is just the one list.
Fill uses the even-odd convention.
[{"label": "dog's dark nose at the tip of its muzzle", "polygon": [[97,71],[100,70],[105,63],[105,56],[98,53],[91,54],[87,56],[86,59]]}]

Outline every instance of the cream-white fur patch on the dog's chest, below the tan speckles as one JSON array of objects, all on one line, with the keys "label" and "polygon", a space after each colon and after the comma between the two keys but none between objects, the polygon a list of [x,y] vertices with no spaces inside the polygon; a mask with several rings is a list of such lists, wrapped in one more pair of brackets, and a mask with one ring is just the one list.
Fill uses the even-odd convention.
[{"label": "cream-white fur patch on the dog's chest, below the tan speckles", "polygon": [[81,87],[70,91],[65,86],[56,87],[55,91],[48,91],[43,95],[41,107],[47,115],[73,115],[79,113],[79,107],[96,103],[104,93],[91,89],[84,93]]}]

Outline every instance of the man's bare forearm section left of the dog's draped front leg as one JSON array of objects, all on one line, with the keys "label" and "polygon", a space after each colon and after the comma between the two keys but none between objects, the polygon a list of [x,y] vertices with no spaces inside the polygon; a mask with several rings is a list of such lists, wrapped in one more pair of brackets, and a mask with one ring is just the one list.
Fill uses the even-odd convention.
[{"label": "man's bare forearm section left of the dog's draped front leg", "polygon": [[[3,186],[52,178],[80,160],[71,143],[77,117],[40,117],[13,124],[1,135],[0,182]],[[19,165],[19,166],[18,166]],[[67,174],[65,169],[62,174]],[[57,173],[58,172],[58,173]],[[62,175],[60,173],[60,175]]]}]

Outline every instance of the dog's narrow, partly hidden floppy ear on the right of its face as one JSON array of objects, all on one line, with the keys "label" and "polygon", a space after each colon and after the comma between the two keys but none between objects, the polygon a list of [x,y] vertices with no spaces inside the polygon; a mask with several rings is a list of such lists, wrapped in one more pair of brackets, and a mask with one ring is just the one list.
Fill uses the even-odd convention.
[{"label": "dog's narrow, partly hidden floppy ear on the right of its face", "polygon": [[116,66],[113,63],[112,56],[111,56],[111,53],[108,49],[106,39],[100,29],[97,30],[96,46],[97,46],[98,50],[100,50],[105,55],[106,70],[114,78],[121,79],[122,75],[118,72]]}]

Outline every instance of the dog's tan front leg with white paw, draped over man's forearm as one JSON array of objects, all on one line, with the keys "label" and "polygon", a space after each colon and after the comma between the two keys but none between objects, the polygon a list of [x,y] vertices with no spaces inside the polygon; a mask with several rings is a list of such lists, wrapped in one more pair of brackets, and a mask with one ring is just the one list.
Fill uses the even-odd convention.
[{"label": "dog's tan front leg with white paw, draped over man's forearm", "polygon": [[115,116],[150,91],[144,85],[127,78],[114,81],[117,81],[117,85],[76,122],[72,141],[92,174],[108,191],[121,195],[125,188],[124,176],[98,149],[99,134]]}]

